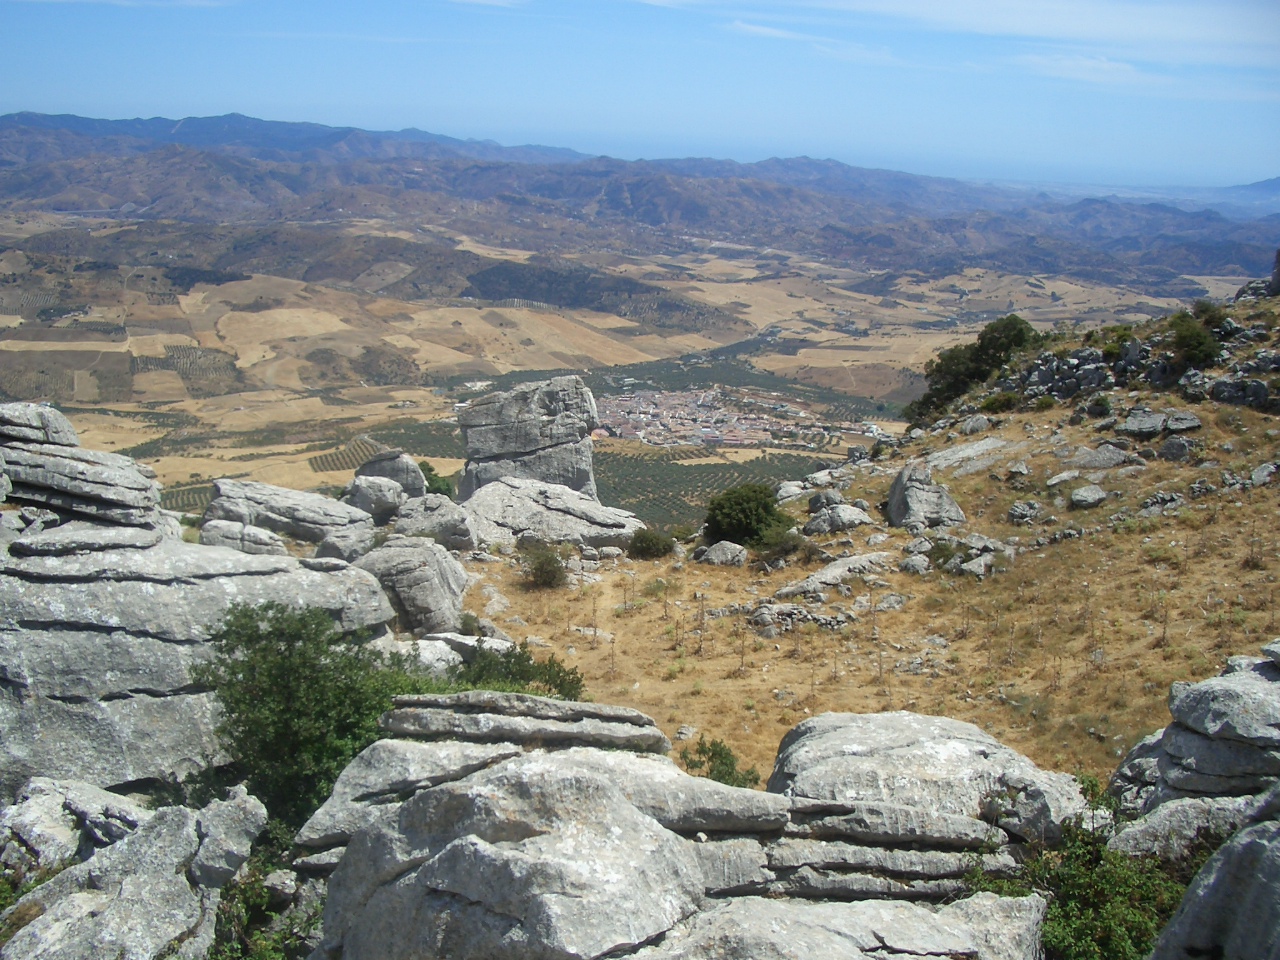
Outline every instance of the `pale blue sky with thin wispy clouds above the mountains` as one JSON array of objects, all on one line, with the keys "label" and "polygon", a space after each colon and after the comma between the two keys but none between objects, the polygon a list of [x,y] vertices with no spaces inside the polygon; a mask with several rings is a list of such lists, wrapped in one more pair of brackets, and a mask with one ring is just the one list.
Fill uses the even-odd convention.
[{"label": "pale blue sky with thin wispy clouds above the mountains", "polygon": [[0,113],[244,113],[627,159],[1280,177],[1280,0],[0,0]]}]

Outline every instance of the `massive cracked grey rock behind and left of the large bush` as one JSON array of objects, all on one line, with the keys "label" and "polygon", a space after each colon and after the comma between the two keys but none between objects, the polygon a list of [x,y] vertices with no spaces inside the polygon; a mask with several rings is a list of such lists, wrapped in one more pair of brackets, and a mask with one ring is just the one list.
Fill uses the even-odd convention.
[{"label": "massive cracked grey rock behind and left of the large bush", "polygon": [[191,668],[232,603],[319,607],[344,631],[393,616],[361,570],[154,530],[41,527],[0,553],[0,797],[32,776],[108,787],[216,762],[216,707]]}]

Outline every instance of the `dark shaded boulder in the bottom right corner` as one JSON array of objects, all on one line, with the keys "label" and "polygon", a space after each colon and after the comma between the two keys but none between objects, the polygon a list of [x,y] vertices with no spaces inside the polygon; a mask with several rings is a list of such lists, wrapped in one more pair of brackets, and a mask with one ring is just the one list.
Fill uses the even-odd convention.
[{"label": "dark shaded boulder in the bottom right corner", "polygon": [[1149,960],[1280,957],[1280,787],[1196,874]]}]

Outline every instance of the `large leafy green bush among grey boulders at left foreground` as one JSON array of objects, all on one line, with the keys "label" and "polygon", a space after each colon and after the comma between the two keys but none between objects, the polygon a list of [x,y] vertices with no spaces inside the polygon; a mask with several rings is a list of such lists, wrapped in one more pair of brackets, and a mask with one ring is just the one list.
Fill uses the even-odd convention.
[{"label": "large leafy green bush among grey boulders at left foreground", "polygon": [[339,635],[319,609],[236,605],[210,643],[214,659],[193,675],[223,704],[219,736],[271,815],[293,827],[378,739],[390,698],[433,686]]}]

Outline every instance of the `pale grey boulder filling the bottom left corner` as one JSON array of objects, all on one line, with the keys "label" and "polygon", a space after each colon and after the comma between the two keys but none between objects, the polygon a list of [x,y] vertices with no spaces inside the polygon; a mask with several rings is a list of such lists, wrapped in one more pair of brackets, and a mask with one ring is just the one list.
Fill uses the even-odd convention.
[{"label": "pale grey boulder filling the bottom left corner", "polygon": [[0,960],[204,957],[220,890],[265,826],[266,809],[242,788],[201,810],[156,810],[10,908]]}]

